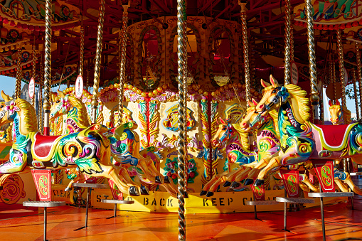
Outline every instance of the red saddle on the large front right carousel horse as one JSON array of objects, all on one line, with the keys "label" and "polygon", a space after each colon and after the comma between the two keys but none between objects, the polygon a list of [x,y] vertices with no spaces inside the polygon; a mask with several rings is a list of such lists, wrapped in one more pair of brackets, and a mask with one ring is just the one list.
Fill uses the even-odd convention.
[{"label": "red saddle on the large front right carousel horse", "polygon": [[[351,125],[354,124],[339,124],[339,125],[319,125],[316,124],[316,127],[319,128],[321,132],[321,138],[324,139],[324,142],[331,148],[342,149],[344,144],[345,137],[348,137],[349,132],[351,131]],[[328,149],[328,146],[326,149]]]}]

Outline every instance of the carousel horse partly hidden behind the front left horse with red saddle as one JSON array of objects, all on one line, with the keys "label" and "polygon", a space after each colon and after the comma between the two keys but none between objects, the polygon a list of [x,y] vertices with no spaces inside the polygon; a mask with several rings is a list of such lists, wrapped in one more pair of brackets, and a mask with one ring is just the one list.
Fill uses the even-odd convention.
[{"label": "carousel horse partly hidden behind the front left horse with red saddle", "polygon": [[[63,92],[58,91],[58,94],[60,99],[55,100],[55,105],[50,109],[50,119],[67,114],[66,120],[68,123],[73,123],[73,127],[67,129],[87,128],[88,118],[84,103],[76,97],[64,95]],[[173,183],[170,183],[169,178],[164,177],[162,180],[163,176],[154,166],[154,162],[140,154],[139,136],[133,131],[136,127],[134,122],[127,122],[103,133],[111,141],[110,150],[113,159],[124,166],[138,166],[143,172],[137,172],[141,181],[160,184],[171,195],[176,196],[177,189]]]}]

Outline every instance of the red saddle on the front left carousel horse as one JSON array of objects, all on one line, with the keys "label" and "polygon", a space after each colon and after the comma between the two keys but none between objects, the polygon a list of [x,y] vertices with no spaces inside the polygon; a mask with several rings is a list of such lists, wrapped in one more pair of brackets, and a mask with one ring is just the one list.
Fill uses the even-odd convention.
[{"label": "red saddle on the front left carousel horse", "polygon": [[54,143],[58,142],[59,136],[43,136],[39,132],[34,136],[33,154],[41,161],[48,161],[52,156],[48,156]]}]

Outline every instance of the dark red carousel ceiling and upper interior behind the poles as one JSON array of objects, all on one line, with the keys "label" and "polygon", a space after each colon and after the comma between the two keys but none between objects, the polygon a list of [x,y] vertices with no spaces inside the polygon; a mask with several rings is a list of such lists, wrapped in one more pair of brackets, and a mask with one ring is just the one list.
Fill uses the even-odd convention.
[{"label": "dark red carousel ceiling and upper interior behind the poles", "polygon": [[[237,0],[188,0],[186,14],[188,22],[188,63],[189,71],[197,75],[198,61],[201,55],[213,55],[213,74],[219,75],[220,82],[223,73],[240,71],[235,75],[236,81],[243,82],[243,61],[240,58],[240,38],[230,40],[230,35],[240,36],[240,6]],[[80,63],[80,26],[85,28],[85,79],[92,83],[94,58],[96,51],[98,8],[97,0],[69,0],[53,1],[52,15],[52,79],[53,85],[60,81],[73,83],[79,73]],[[122,4],[127,1],[106,0],[105,23],[103,32],[103,48],[101,63],[101,85],[117,77],[119,29],[122,26]],[[252,73],[255,79],[267,77],[270,73],[279,78],[283,77],[284,60],[284,1],[280,0],[251,0],[247,1],[247,28],[250,34],[250,58],[252,58]],[[308,79],[308,51],[307,31],[304,14],[304,1],[291,0],[294,9],[292,26],[294,28],[294,61],[299,66],[299,80]],[[361,1],[313,1],[316,61],[318,75],[326,72],[327,61],[336,60],[336,29],[344,34],[344,53],[347,68],[352,68],[356,62],[354,45],[350,39],[362,41],[362,3]],[[43,44],[45,29],[45,1],[43,0],[4,0],[0,3],[0,74],[16,76],[16,52],[21,48],[21,65],[23,80],[28,81],[32,76],[32,48],[36,48],[36,79],[41,76],[41,63],[43,63]],[[162,63],[161,58],[176,58],[176,41],[169,43],[166,39],[175,36],[176,0],[130,0],[128,9],[127,63],[134,63],[134,55],[139,55],[137,61],[140,69],[129,68],[139,76],[149,75],[154,82],[159,83],[155,75],[162,76],[162,68],[167,63],[172,65],[175,60]],[[171,19],[171,20],[170,20]],[[143,24],[144,23],[144,24]],[[360,26],[361,24],[361,26]],[[151,25],[158,25],[153,28]],[[223,28],[218,26],[223,26]],[[211,28],[212,27],[212,28]],[[137,29],[139,30],[137,32]],[[146,31],[144,31],[146,29]],[[159,30],[161,29],[161,31]],[[134,33],[132,32],[134,31]],[[164,32],[162,32],[164,31]],[[138,36],[137,38],[133,36]],[[142,36],[143,38],[139,38]],[[202,43],[205,36],[209,36],[211,44]],[[135,43],[134,41],[137,43]],[[141,43],[142,42],[142,43]],[[206,47],[205,47],[206,46]],[[210,47],[210,48],[207,48]],[[201,50],[206,48],[205,50]],[[138,52],[137,52],[138,51]],[[164,53],[167,52],[167,53]],[[233,53],[234,52],[234,53]],[[242,52],[240,53],[242,56]],[[234,61],[233,58],[239,58]],[[214,63],[220,60],[220,63]],[[157,62],[158,61],[158,62]],[[205,63],[201,61],[200,63]],[[232,65],[239,65],[233,67]],[[229,66],[231,66],[229,68]],[[158,72],[160,70],[161,72]],[[208,70],[201,71],[210,73]],[[176,75],[176,71],[172,74]],[[171,75],[171,74],[170,74]],[[127,80],[132,82],[132,74]],[[134,77],[134,76],[133,76]],[[225,76],[224,76],[225,77]],[[170,77],[171,78],[171,77]],[[232,78],[232,77],[231,77]],[[165,80],[166,81],[166,80]],[[324,80],[327,84],[329,80]],[[146,86],[147,87],[147,86]]]}]

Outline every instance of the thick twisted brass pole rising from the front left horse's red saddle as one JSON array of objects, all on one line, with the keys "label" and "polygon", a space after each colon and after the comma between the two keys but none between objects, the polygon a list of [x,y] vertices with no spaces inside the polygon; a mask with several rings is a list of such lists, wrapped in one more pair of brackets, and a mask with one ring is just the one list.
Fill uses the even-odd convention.
[{"label": "thick twisted brass pole rising from the front left horse's red saddle", "polygon": [[46,42],[44,43],[44,135],[49,134],[50,85],[51,85],[51,0],[46,0]]}]

